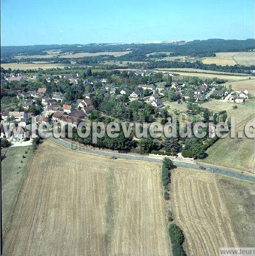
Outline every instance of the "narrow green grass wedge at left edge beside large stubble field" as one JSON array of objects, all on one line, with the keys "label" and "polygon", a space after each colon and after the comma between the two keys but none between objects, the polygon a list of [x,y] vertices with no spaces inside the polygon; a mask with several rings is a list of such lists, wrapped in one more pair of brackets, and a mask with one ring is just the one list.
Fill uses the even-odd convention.
[{"label": "narrow green grass wedge at left edge beside large stubble field", "polygon": [[[28,172],[28,161],[32,154],[32,148],[9,147],[4,148],[5,157],[1,162],[2,169],[2,223],[3,231],[11,219],[17,196],[22,187],[22,182]],[[26,154],[25,151],[28,153]],[[26,158],[22,156],[25,155]],[[21,163],[21,160],[23,163]]]}]

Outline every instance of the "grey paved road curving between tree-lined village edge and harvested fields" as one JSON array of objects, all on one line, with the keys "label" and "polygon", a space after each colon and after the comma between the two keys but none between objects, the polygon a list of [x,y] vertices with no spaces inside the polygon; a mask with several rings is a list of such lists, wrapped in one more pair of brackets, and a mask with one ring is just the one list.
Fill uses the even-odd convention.
[{"label": "grey paved road curving between tree-lined village edge and harvested fields", "polygon": [[[63,141],[62,139],[54,138],[53,136],[50,136],[49,139],[58,144],[63,145],[64,147],[68,147],[73,150],[83,151],[85,153],[99,154],[100,156],[117,157],[117,158],[121,158],[121,159],[130,159],[130,160],[143,160],[143,161],[147,161],[147,162],[160,162],[161,163],[163,161],[162,159],[155,159],[155,158],[148,157],[148,156],[136,156],[136,155],[125,154],[125,153],[114,153],[114,152],[104,151],[104,150],[100,150],[100,149],[94,150],[94,149],[89,149],[89,148],[83,148],[83,147],[74,145],[71,142],[67,142],[67,141]],[[255,182],[255,177],[249,176],[246,174],[242,174],[242,173],[238,173],[235,171],[227,171],[226,169],[221,169],[221,168],[211,168],[206,165],[203,165],[203,167],[205,169],[200,169],[201,165],[197,165],[197,163],[188,163],[188,162],[184,162],[181,160],[173,160],[173,163],[176,166],[199,169],[200,171],[214,172],[215,174],[221,174],[221,175],[225,175],[225,176],[229,176],[229,177],[233,177],[233,178],[239,178],[240,180]]]}]

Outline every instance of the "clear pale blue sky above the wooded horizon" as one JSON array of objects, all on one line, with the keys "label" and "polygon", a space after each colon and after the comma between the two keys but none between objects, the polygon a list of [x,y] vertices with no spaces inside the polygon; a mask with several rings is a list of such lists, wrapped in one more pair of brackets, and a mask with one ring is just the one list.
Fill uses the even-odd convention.
[{"label": "clear pale blue sky above the wooded horizon", "polygon": [[1,46],[254,38],[254,0],[1,0]]}]

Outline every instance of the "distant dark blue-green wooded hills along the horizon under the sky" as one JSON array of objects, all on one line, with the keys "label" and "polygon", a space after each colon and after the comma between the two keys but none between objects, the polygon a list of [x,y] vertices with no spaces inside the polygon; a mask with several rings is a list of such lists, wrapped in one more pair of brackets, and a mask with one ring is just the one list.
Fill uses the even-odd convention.
[{"label": "distant dark blue-green wooded hills along the horizon under the sky", "polygon": [[215,52],[243,52],[254,49],[255,40],[223,40],[208,39],[194,40],[185,43],[149,43],[149,44],[52,44],[34,46],[1,46],[1,59],[12,58],[16,55],[47,55],[47,50],[61,52],[116,52],[131,50],[121,56],[124,61],[142,60],[148,53],[172,52],[172,55],[214,56]]}]

